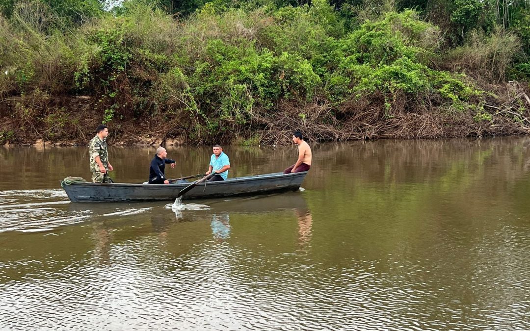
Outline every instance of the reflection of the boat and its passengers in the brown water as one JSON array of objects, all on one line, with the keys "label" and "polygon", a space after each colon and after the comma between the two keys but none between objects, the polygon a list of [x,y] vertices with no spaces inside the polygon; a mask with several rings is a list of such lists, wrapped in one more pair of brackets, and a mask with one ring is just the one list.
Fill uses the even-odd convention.
[{"label": "reflection of the boat and its passengers in the brown water", "polygon": [[[193,209],[188,209],[190,207]],[[255,227],[259,231],[259,224],[267,231],[293,231],[295,236],[291,238],[296,240],[301,251],[311,247],[313,219],[301,192],[201,200],[185,204],[182,210],[157,202],[70,204],[69,209],[92,215],[83,223],[92,229],[93,254],[100,263],[109,261],[113,244],[140,236],[155,235],[162,246],[185,247],[208,238],[240,240],[246,228]],[[236,236],[234,231],[237,231]],[[185,240],[175,243],[173,237]],[[175,251],[176,248],[171,249]]]}]

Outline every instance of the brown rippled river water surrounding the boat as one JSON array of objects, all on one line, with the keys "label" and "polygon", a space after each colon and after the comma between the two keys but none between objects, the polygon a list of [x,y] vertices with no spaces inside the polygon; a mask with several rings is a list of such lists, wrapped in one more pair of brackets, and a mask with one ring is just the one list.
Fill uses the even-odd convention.
[{"label": "brown rippled river water surrounding the boat", "polygon": [[[110,147],[116,182],[153,147]],[[226,146],[229,177],[295,147]],[[170,178],[211,149],[170,147]],[[87,147],[0,147],[0,330],[528,330],[530,139],[313,146],[299,192],[70,203]]]}]

